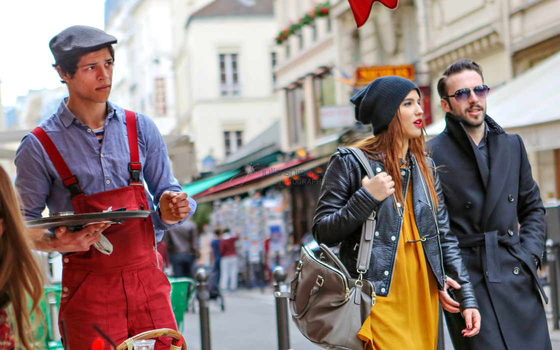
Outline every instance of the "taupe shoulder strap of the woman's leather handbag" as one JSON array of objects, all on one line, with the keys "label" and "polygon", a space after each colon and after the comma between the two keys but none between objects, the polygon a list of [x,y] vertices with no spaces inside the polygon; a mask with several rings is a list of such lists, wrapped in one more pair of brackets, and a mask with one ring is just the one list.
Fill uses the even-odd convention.
[{"label": "taupe shoulder strap of the woman's leather handbag", "polygon": [[[368,178],[373,179],[375,176],[374,170],[371,169],[370,161],[367,160],[365,153],[357,147],[348,147],[347,150],[352,152],[363,169],[366,170]],[[360,250],[358,250],[358,259],[356,262],[356,270],[360,274],[360,279],[362,279],[363,274],[367,272],[367,269],[370,268],[371,250],[374,248],[375,226],[375,211],[373,211],[362,226]]]}]

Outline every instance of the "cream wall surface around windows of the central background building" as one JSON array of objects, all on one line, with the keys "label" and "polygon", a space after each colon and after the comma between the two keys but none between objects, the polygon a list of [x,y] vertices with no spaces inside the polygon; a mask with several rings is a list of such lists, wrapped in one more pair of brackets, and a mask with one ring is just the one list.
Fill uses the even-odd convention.
[{"label": "cream wall surface around windows of the central background building", "polygon": [[[243,143],[279,118],[273,91],[272,16],[195,17],[186,30],[183,53],[176,62],[180,132],[192,134],[200,166],[211,154],[225,157],[223,131],[237,125]],[[241,93],[221,96],[219,55],[236,53]]]}]

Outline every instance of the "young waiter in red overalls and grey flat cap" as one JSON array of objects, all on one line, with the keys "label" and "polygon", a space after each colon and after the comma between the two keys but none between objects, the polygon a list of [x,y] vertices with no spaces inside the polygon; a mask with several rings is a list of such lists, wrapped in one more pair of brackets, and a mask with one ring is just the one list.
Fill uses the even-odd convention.
[{"label": "young waiter in red overalls and grey flat cap", "polygon": [[[69,97],[16,153],[16,188],[27,219],[41,217],[45,206],[76,214],[156,208],[146,220],[122,225],[58,227],[54,235],[32,230],[36,249],[66,253],[59,329],[70,349],[91,347],[99,337],[94,324],[117,344],[146,330],[177,329],[156,241],[196,208],[171,174],[153,121],[108,101],[115,43],[87,26],[50,40]],[[156,349],[169,349],[170,342],[158,339]]]}]

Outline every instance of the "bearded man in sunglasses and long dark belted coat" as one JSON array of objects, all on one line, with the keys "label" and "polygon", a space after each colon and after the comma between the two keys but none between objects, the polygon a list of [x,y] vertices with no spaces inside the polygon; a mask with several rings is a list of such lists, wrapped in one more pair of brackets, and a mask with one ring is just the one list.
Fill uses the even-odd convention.
[{"label": "bearded man in sunglasses and long dark belted coat", "polygon": [[445,312],[455,349],[550,349],[537,274],[544,207],[525,146],[486,114],[489,88],[477,63],[451,64],[437,90],[446,128],[428,148],[484,323],[477,337],[458,337],[460,315]]}]

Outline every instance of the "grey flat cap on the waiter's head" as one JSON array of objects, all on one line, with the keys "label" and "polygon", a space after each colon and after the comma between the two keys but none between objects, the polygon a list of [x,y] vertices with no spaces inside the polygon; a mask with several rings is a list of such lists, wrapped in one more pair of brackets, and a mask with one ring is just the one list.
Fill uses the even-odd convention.
[{"label": "grey flat cap on the waiter's head", "polygon": [[88,26],[71,26],[50,39],[49,48],[55,62],[65,58],[116,44],[116,38],[101,29]]}]

